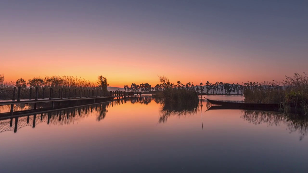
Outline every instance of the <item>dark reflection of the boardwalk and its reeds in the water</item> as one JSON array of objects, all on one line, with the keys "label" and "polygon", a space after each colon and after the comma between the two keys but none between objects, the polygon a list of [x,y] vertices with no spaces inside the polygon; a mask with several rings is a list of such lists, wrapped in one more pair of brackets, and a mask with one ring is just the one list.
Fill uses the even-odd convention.
[{"label": "dark reflection of the boardwalk and its reeds in the water", "polygon": [[[22,127],[30,126],[35,128],[35,126],[39,123],[47,123],[56,126],[78,123],[93,114],[96,114],[95,116],[97,117],[97,121],[101,121],[106,117],[108,107],[115,107],[124,103],[148,104],[151,103],[151,97],[145,96],[141,98],[128,98],[122,100],[115,100],[108,103],[99,103],[88,106],[67,108],[61,111],[53,111],[27,116],[21,115],[16,118],[3,119],[0,120],[0,133],[5,131],[14,131],[14,133],[16,133]],[[21,107],[28,108],[27,105]],[[90,112],[91,114],[89,114]]]}]

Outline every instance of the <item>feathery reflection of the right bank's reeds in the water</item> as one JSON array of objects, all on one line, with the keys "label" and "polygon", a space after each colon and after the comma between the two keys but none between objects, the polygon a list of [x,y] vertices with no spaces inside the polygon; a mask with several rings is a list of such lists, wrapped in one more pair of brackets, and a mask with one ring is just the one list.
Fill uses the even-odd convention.
[{"label": "feathery reflection of the right bank's reeds in the water", "polygon": [[241,118],[255,125],[262,123],[266,123],[268,126],[286,124],[290,133],[298,132],[300,134],[299,140],[302,140],[308,133],[308,118],[296,114],[242,110]]}]

